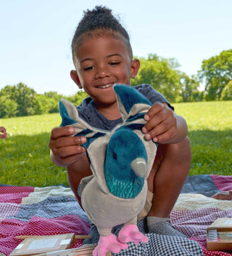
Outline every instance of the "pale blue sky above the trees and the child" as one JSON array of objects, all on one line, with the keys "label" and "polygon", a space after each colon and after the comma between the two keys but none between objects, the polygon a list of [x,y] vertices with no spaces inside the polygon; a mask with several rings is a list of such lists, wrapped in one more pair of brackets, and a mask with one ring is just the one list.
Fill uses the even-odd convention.
[{"label": "pale blue sky above the trees and the child", "polygon": [[188,75],[232,48],[231,0],[0,0],[0,89],[22,82],[37,93],[78,92],[70,44],[83,10],[100,4],[120,17],[134,55],[174,57]]}]

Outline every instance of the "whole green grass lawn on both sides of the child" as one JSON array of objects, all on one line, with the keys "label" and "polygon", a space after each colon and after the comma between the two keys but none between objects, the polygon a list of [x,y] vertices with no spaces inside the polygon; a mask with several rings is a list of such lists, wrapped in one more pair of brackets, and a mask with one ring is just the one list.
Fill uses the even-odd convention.
[{"label": "whole green grass lawn on both sides of the child", "polygon": [[[190,175],[231,175],[232,102],[178,103],[174,107],[188,123]],[[51,129],[60,122],[58,113],[0,119],[9,135],[0,140],[0,183],[68,185],[66,169],[55,166],[49,156]]]}]

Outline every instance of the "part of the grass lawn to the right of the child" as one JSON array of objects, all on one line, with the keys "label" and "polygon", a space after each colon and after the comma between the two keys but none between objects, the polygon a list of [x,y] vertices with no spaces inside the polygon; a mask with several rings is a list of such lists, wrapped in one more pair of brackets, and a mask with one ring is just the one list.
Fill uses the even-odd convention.
[{"label": "part of the grass lawn to the right of the child", "polygon": [[231,175],[232,102],[175,104],[188,123],[192,161],[190,175]]}]

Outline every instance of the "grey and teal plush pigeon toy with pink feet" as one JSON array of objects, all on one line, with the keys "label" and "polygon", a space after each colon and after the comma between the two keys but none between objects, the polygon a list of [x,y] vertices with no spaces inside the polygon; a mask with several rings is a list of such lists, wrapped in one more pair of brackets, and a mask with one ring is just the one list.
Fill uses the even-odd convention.
[{"label": "grey and teal plush pigeon toy with pink feet", "polygon": [[[73,136],[86,136],[86,148],[93,175],[81,180],[78,193],[86,215],[98,228],[100,239],[94,256],[120,252],[128,242],[147,242],[138,231],[137,215],[144,208],[146,178],[152,169],[157,145],[144,138],[149,100],[133,87],[116,84],[114,90],[123,123],[111,131],[91,127],[65,100],[59,102],[61,126],[75,127]],[[124,224],[118,236],[112,227]]]}]

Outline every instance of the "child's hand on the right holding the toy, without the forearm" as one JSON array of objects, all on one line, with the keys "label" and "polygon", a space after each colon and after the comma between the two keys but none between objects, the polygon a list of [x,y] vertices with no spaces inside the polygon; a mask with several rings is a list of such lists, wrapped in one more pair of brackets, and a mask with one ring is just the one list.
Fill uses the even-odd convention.
[{"label": "child's hand on the right holding the toy, without the forearm", "polygon": [[144,116],[147,123],[144,125],[146,140],[166,144],[178,134],[177,119],[175,113],[166,103],[155,103]]}]

